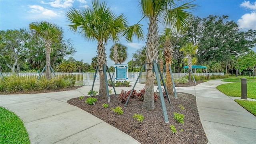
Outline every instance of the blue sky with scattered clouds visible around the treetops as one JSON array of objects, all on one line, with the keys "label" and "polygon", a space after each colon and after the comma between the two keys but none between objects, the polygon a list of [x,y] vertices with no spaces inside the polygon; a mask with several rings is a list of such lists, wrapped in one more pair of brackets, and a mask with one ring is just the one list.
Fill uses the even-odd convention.
[{"label": "blue sky with scattered clouds visible around the treetops", "polygon": [[[141,18],[137,0],[106,0],[108,6],[115,14],[124,13],[130,23],[136,24]],[[212,15],[228,15],[229,20],[237,22],[242,30],[256,30],[256,0],[196,0],[193,2],[198,7],[193,11],[194,16],[205,18]],[[65,38],[70,38],[77,50],[74,54],[76,60],[84,60],[90,64],[92,57],[96,56],[96,41],[85,40],[78,34],[69,31],[66,11],[70,8],[83,9],[91,7],[90,0],[0,0],[0,30],[28,28],[31,22],[46,20],[61,26],[64,29]],[[143,30],[147,33],[147,20],[142,20]],[[159,30],[164,27],[159,24]],[[124,38],[120,43],[128,47],[128,58],[124,63],[132,60],[132,54],[145,46],[145,41],[134,40],[128,43]],[[113,42],[106,45],[106,53]],[[256,51],[256,48],[253,48]],[[108,66],[113,66],[114,62],[109,58]]]}]

